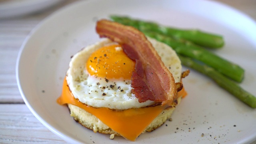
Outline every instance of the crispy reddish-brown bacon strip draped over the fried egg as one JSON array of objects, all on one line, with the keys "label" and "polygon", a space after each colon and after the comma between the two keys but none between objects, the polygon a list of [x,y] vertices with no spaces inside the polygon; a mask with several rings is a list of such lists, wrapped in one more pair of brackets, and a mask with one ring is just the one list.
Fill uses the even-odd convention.
[{"label": "crispy reddish-brown bacon strip draped over the fried egg", "polygon": [[176,99],[174,78],[146,36],[137,29],[109,20],[97,22],[96,32],[118,42],[129,58],[136,61],[132,73],[132,93],[139,102],[152,100],[162,105]]}]

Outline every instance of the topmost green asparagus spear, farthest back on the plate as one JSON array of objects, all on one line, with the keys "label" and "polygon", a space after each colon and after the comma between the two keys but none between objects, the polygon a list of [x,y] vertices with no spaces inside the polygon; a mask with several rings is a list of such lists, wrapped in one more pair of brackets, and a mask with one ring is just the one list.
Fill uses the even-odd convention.
[{"label": "topmost green asparagus spear, farthest back on the plate", "polygon": [[222,46],[224,46],[224,40],[222,36],[202,32],[200,30],[182,30],[178,28],[160,26],[154,22],[133,20],[125,16],[110,16],[110,18],[115,22],[119,22],[124,25],[134,26],[139,30],[150,30],[161,34],[166,34],[175,38],[184,38],[186,40],[194,42],[195,44],[208,48],[221,48]]}]

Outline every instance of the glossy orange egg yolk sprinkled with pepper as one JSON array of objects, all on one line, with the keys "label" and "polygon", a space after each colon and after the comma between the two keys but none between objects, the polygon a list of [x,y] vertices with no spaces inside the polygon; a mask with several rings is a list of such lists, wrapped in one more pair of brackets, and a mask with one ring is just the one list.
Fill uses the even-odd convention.
[{"label": "glossy orange egg yolk sprinkled with pepper", "polygon": [[104,46],[92,53],[86,62],[90,75],[106,79],[128,80],[134,67],[135,62],[124,53],[120,45]]}]

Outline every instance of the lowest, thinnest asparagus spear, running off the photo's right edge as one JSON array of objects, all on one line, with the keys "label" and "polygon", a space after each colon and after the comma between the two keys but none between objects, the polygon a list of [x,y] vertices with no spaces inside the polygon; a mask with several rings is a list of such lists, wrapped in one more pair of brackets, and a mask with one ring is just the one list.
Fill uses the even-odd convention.
[{"label": "lowest, thinnest asparagus spear, running off the photo's right edge", "polygon": [[213,68],[206,66],[204,64],[198,64],[194,60],[188,57],[184,57],[179,55],[182,65],[188,66],[205,74],[206,76],[212,78],[220,87],[224,88],[230,94],[233,94],[236,98],[247,104],[252,108],[256,108],[256,97],[241,88],[238,84],[233,82],[232,80],[226,78],[218,71],[214,70]]}]

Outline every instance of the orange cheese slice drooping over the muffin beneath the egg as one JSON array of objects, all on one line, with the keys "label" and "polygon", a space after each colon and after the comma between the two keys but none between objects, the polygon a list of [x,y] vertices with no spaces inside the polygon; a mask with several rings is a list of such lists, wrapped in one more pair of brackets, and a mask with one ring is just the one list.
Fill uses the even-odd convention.
[{"label": "orange cheese slice drooping over the muffin beneath the egg", "polygon": [[[180,91],[181,94],[182,91]],[[183,90],[182,95],[185,94]],[[112,130],[121,134],[124,138],[135,141],[145,128],[156,118],[165,108],[170,106],[152,106],[144,108],[130,108],[128,110],[115,111],[109,108],[93,108],[83,104],[74,98],[70,92],[66,78],[63,82],[62,95],[57,100],[58,104],[73,104],[93,114]]]}]

